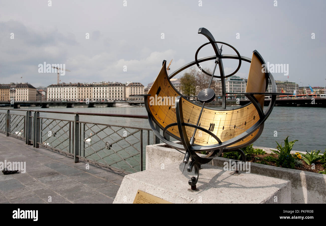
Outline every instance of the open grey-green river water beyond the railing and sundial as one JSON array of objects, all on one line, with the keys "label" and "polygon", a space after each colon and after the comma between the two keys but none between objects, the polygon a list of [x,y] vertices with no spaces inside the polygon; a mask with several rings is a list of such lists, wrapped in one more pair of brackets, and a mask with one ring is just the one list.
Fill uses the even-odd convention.
[{"label": "open grey-green river water beyond the railing and sundial", "polygon": [[[147,115],[145,107],[47,108],[40,110],[58,112]],[[275,148],[277,145],[275,141],[278,143],[284,143],[284,139],[289,136],[289,141],[299,140],[293,146],[293,150],[295,151],[311,151],[316,149],[324,152],[326,148],[325,113],[325,108],[274,107],[271,115],[265,122],[262,134],[260,135],[259,139],[254,142],[254,145]],[[42,116],[50,115],[51,114],[42,114]],[[73,115],[65,115],[64,117],[65,118],[63,119],[73,120]],[[80,117],[81,121],[85,120],[89,122],[108,123],[113,125],[150,128],[147,119],[99,116]]]}]

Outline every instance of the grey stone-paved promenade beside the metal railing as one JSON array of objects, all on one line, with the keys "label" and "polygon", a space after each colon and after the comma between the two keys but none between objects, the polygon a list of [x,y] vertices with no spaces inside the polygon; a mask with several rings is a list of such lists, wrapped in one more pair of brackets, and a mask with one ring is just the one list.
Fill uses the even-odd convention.
[{"label": "grey stone-paved promenade beside the metal railing", "polygon": [[0,133],[0,161],[5,159],[26,162],[26,173],[0,171],[0,203],[112,203],[125,176]]}]

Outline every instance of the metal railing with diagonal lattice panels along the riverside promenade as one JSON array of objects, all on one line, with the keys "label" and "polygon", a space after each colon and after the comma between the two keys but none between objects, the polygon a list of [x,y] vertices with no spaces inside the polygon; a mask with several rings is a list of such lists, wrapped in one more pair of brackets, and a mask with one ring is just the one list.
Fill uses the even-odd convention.
[{"label": "metal railing with diagonal lattice panels along the riverside promenade", "polygon": [[[55,117],[40,116],[40,113],[55,113]],[[73,118],[66,119],[70,115]],[[0,132],[25,140],[35,148],[42,146],[64,152],[73,156],[75,163],[81,158],[125,173],[142,171],[144,144],[159,143],[150,128],[81,121],[80,116],[148,118],[147,115],[0,108]]]}]

